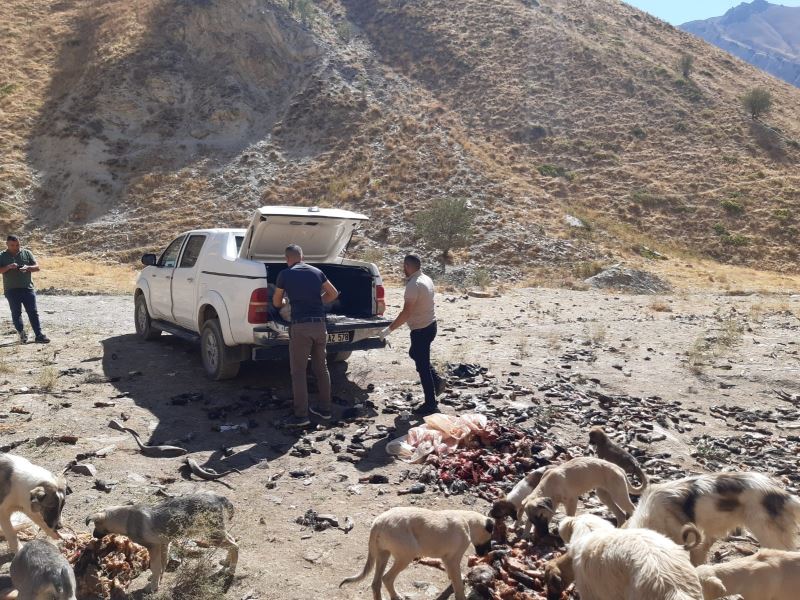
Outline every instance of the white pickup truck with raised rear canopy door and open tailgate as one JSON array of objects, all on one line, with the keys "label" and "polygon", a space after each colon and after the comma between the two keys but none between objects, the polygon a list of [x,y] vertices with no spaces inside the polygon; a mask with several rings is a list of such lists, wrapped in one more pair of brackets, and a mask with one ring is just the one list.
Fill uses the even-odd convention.
[{"label": "white pickup truck with raised rear canopy door and open tailgate", "polygon": [[284,250],[294,243],[340,293],[325,307],[329,358],[383,348],[378,335],[390,321],[382,316],[378,268],[341,256],[365,220],[344,210],[265,206],[247,229],[182,233],[160,256],[142,257],[136,333],[153,340],[163,331],[199,342],[203,366],[216,380],[235,377],[245,360],[288,357],[289,323],[273,309],[272,293],[287,268]]}]

